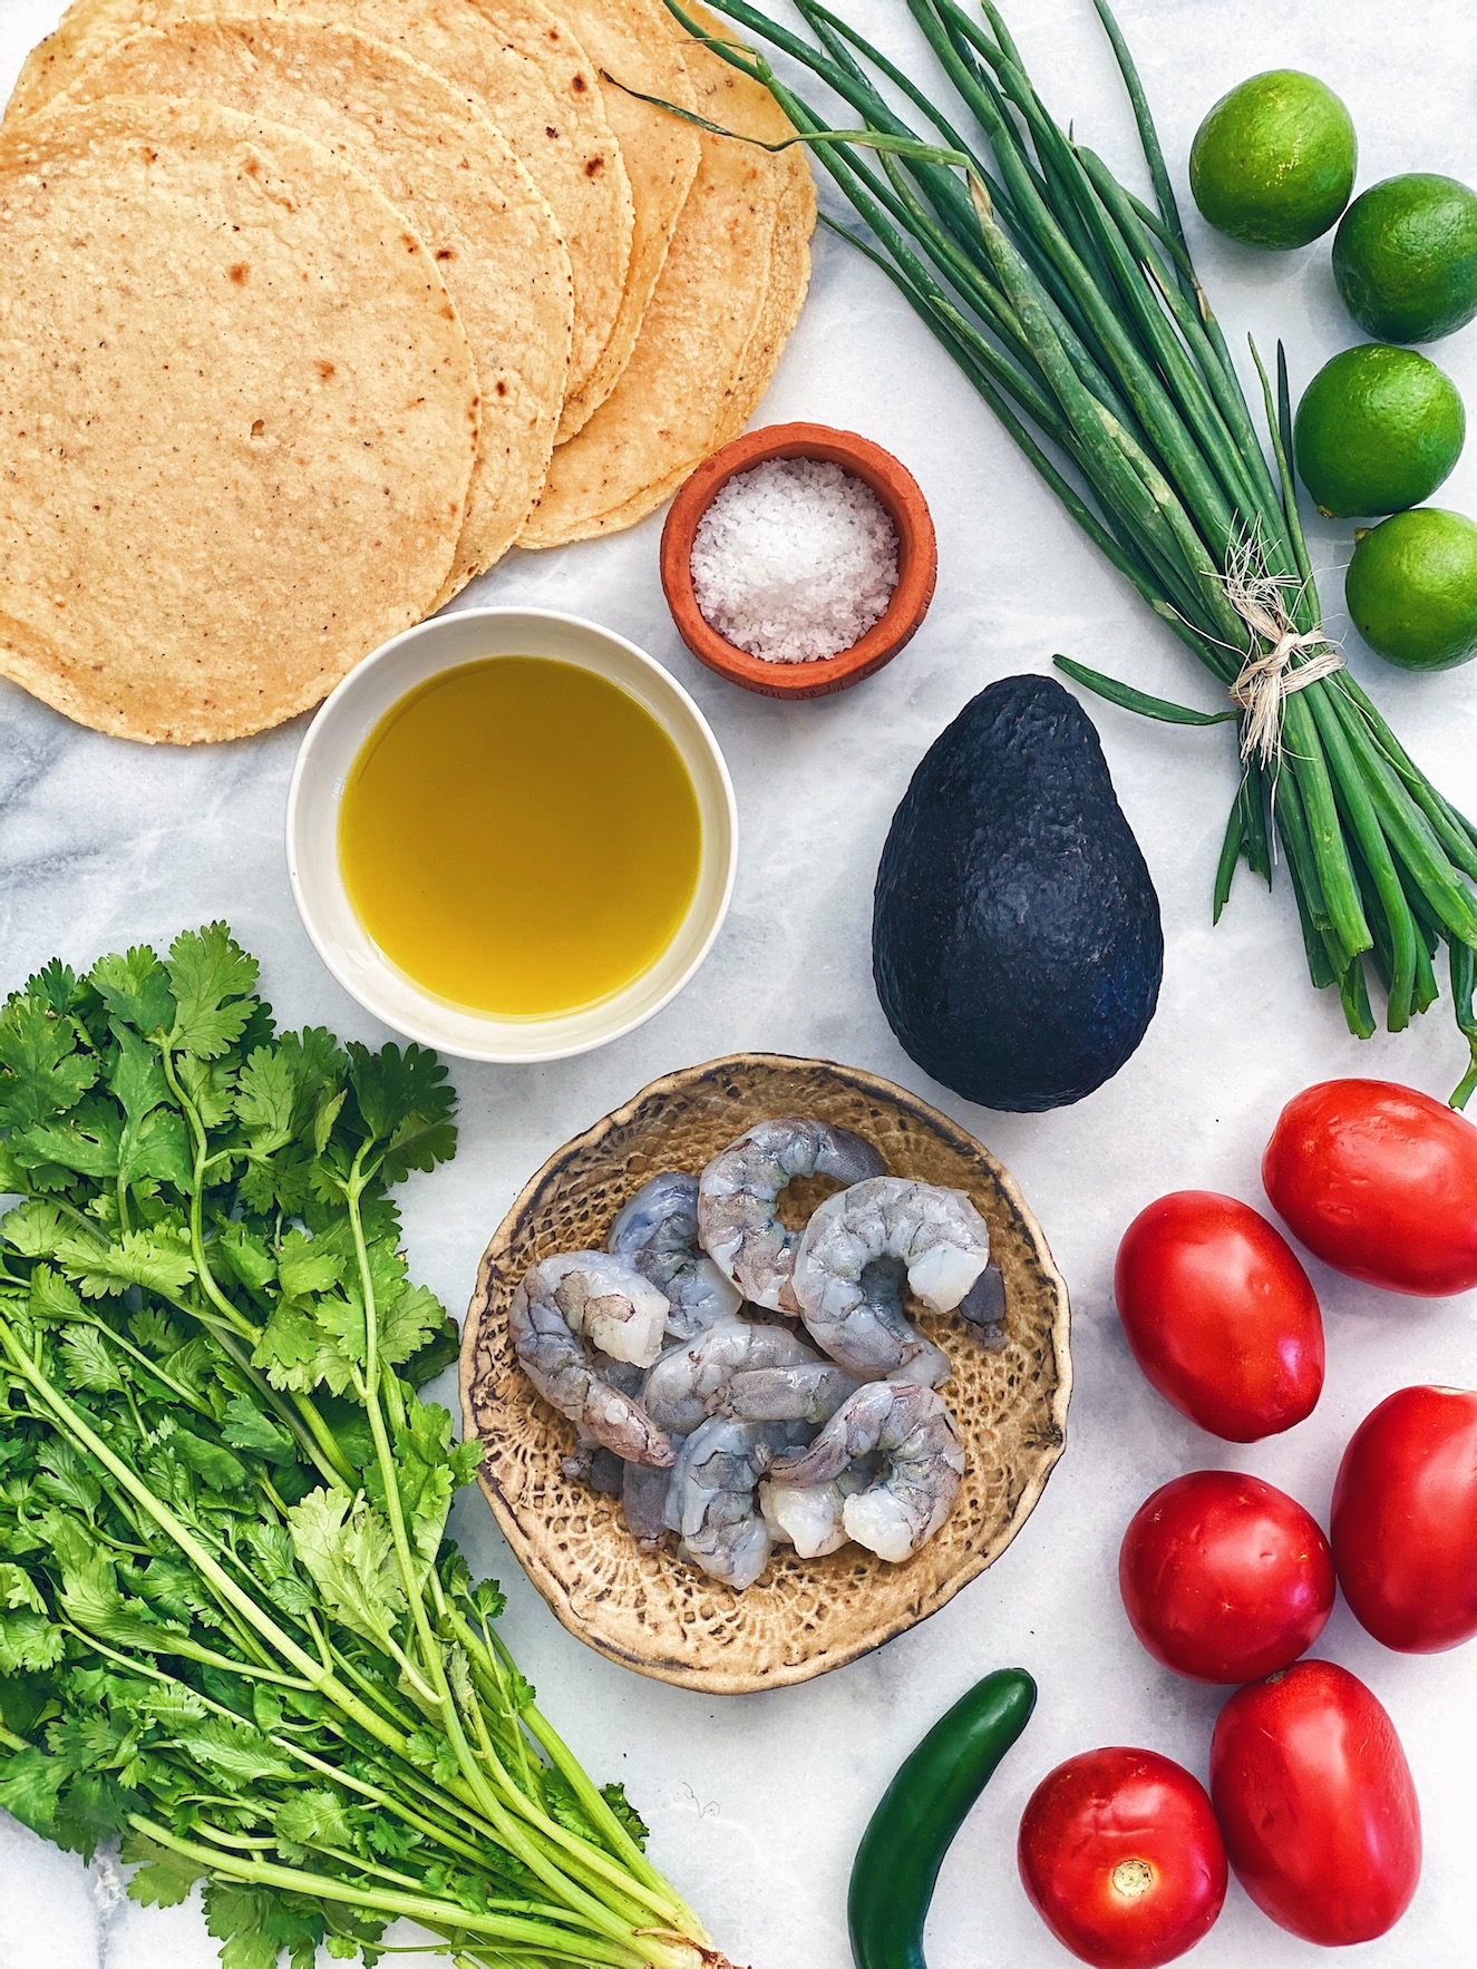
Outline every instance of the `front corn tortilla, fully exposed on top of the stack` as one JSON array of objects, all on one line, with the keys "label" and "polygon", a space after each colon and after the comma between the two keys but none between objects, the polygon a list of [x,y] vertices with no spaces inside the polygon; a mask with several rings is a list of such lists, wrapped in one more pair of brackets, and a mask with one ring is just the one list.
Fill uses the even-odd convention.
[{"label": "front corn tortilla, fully exposed on top of the stack", "polygon": [[297,130],[110,96],[0,132],[0,671],[189,744],[421,620],[477,457],[435,260]]}]

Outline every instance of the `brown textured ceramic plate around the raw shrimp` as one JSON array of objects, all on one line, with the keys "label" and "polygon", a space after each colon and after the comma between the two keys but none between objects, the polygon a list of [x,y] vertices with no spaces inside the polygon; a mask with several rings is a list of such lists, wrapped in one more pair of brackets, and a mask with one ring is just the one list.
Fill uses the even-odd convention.
[{"label": "brown textured ceramic plate around the raw shrimp", "polygon": [[[522,1272],[605,1244],[620,1205],[660,1170],[701,1170],[756,1120],[815,1114],[876,1142],[888,1168],[965,1189],[1004,1272],[1006,1345],[989,1353],[957,1315],[912,1305],[953,1361],[945,1396],[969,1469],[943,1528],[904,1565],[859,1546],[823,1559],[778,1548],[733,1593],[675,1556],[642,1556],[620,1500],[569,1481],[573,1424],[518,1366],[508,1300]],[[794,1183],[782,1217],[803,1223],[833,1185]],[[1010,1175],[916,1095],[825,1059],[738,1053],[672,1073],[565,1144],[528,1183],[482,1256],[461,1345],[467,1435],[486,1445],[481,1485],[508,1544],[559,1620],[599,1654],[709,1695],[809,1682],[928,1619],[1010,1544],[1065,1441],[1067,1292]]]}]

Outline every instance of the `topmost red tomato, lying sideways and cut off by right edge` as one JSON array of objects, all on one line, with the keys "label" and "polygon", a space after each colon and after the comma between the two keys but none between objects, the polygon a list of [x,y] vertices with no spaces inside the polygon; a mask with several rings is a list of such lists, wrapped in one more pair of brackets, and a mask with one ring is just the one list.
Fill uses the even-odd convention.
[{"label": "topmost red tomato, lying sideways and cut off by right edge", "polygon": [[1477,1128],[1392,1081],[1323,1081],[1262,1156],[1272,1209],[1323,1264],[1440,1300],[1477,1286]]}]

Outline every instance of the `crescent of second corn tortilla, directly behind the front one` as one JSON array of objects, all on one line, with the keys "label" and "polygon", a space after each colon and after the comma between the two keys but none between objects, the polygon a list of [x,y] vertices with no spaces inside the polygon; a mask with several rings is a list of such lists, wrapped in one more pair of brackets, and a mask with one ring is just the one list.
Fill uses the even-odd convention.
[{"label": "crescent of second corn tortilla, directly behind the front one", "polygon": [[512,545],[549,467],[569,372],[569,254],[488,118],[353,28],[297,16],[140,28],[59,100],[181,96],[289,124],[384,191],[431,248],[471,343],[481,437],[447,601]]}]

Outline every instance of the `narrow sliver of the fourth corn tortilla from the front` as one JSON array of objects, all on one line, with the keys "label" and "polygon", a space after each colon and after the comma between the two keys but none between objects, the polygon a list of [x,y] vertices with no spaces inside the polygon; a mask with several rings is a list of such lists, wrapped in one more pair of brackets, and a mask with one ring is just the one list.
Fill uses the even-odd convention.
[{"label": "narrow sliver of the fourth corn tortilla from the front", "polygon": [[[679,32],[662,0],[561,0],[601,81],[605,108],[630,177],[634,232],[620,309],[591,378],[565,398],[559,441],[583,429],[620,382],[636,333],[672,244],[677,215],[697,177],[697,130],[626,91],[695,108]],[[622,89],[620,85],[626,85]]]}]

